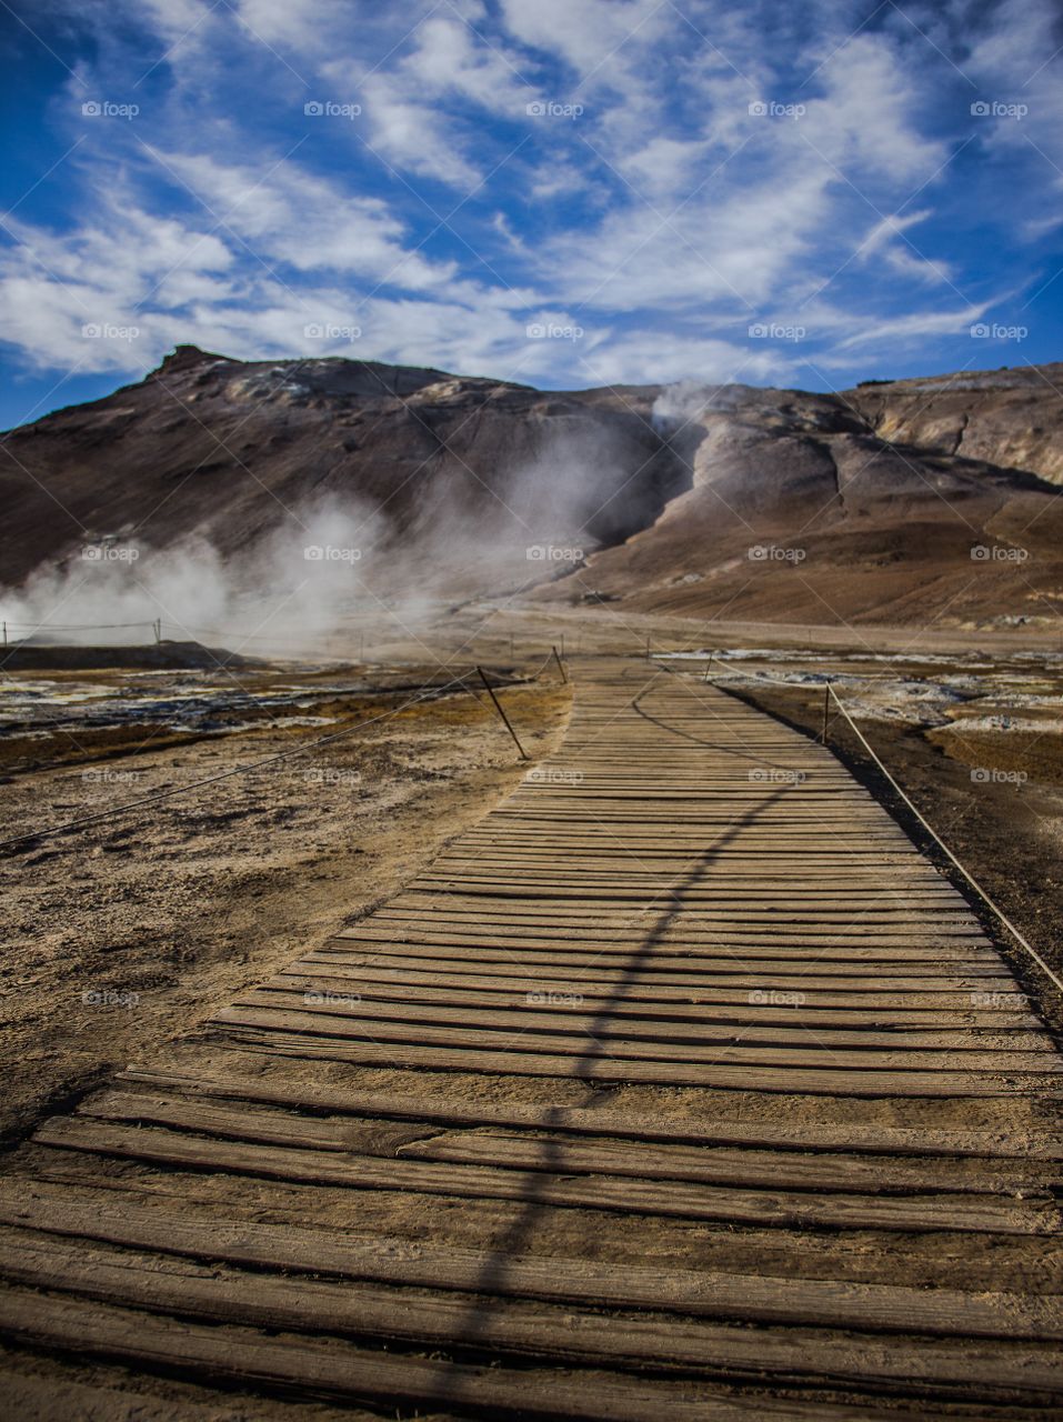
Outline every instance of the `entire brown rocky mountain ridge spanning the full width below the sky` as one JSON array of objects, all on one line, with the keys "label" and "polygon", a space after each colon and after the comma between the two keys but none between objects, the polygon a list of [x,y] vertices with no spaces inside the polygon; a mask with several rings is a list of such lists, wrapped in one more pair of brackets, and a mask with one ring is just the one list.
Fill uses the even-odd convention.
[{"label": "entire brown rocky mountain ridge spanning the full width below the sky", "polygon": [[[9,583],[91,539],[223,559],[357,510],[374,597],[802,623],[1053,627],[1063,367],[541,392],[179,347],[0,444]],[[534,592],[532,592],[534,590]]]}]

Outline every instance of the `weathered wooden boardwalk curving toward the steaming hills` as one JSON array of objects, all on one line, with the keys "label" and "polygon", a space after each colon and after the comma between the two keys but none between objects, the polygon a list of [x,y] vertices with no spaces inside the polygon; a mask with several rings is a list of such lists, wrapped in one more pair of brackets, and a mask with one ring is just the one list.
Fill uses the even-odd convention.
[{"label": "weathered wooden boardwalk curving toward the steaming hills", "polygon": [[0,1328],[391,1416],[1047,1418],[1060,1066],[827,749],[588,661],[402,893],[21,1149]]}]

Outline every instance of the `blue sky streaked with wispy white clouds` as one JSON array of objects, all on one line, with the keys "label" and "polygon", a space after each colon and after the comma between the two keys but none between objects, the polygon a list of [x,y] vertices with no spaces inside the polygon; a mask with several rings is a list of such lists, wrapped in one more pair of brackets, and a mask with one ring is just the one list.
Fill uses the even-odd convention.
[{"label": "blue sky streaked with wispy white clouds", "polygon": [[1063,358],[1047,0],[0,0],[0,425],[176,343],[576,388]]}]

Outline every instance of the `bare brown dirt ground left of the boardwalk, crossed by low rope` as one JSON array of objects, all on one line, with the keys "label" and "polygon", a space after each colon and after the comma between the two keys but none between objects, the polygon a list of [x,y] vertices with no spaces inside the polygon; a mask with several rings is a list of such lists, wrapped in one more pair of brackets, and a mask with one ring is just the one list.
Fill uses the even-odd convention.
[{"label": "bare brown dirt ground left of the boardwalk, crossed by low rope", "polygon": [[[499,695],[532,758],[557,744],[570,698],[556,678]],[[517,785],[524,765],[483,695],[411,700],[330,695],[327,725],[252,722],[161,749],[142,725],[6,742],[0,839],[379,718],[141,815],[0,849],[6,1143],[392,894]],[[11,774],[16,739],[58,764]]]}]

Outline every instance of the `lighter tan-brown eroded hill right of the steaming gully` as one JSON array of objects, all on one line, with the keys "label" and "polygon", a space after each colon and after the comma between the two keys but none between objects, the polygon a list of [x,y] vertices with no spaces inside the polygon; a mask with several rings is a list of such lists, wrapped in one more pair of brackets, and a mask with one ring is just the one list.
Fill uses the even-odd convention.
[{"label": "lighter tan-brown eroded hill right of the steaming gully", "polygon": [[667,391],[657,424],[689,489],[543,596],[591,587],[618,609],[692,617],[1063,631],[1063,503],[1047,482],[1060,378],[1043,367],[840,395]]}]

